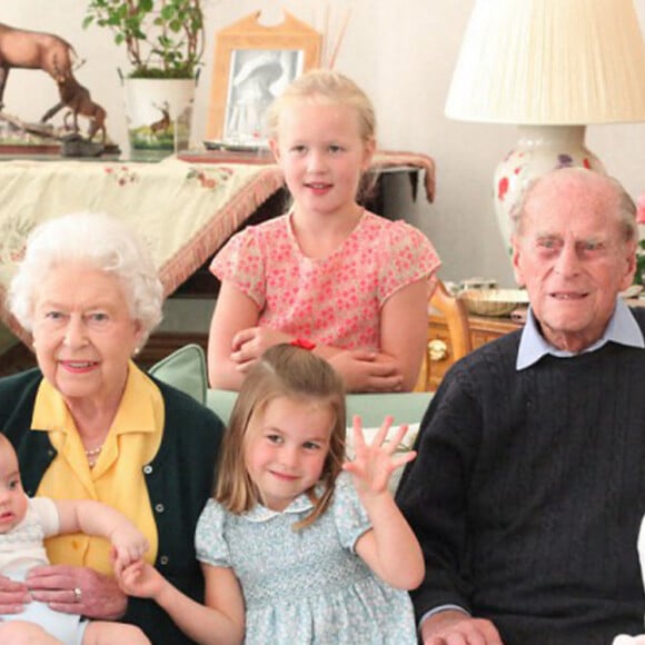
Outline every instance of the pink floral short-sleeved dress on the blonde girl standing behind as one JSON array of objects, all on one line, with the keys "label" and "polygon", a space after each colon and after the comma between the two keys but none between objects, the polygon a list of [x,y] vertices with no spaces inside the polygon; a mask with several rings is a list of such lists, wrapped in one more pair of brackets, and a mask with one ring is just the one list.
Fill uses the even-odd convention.
[{"label": "pink floral short-sleeved dress on the blonde girl standing behind", "polygon": [[311,259],[285,215],[236,235],[210,270],[257,304],[260,326],[341,349],[378,350],[384,302],[439,264],[421,231],[371,212],[335,252]]}]

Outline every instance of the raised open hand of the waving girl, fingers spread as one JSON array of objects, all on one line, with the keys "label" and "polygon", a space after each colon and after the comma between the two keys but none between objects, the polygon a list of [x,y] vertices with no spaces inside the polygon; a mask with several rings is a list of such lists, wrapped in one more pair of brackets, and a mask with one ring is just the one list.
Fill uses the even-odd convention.
[{"label": "raised open hand of the waving girl, fingers spread", "polygon": [[345,463],[343,469],[351,473],[354,485],[359,494],[378,495],[386,492],[391,474],[417,456],[414,450],[395,455],[397,446],[408,430],[408,426],[401,425],[394,438],[390,441],[386,441],[391,423],[393,417],[385,417],[371,444],[366,444],[360,417],[358,415],[354,417],[356,457],[353,462]]}]

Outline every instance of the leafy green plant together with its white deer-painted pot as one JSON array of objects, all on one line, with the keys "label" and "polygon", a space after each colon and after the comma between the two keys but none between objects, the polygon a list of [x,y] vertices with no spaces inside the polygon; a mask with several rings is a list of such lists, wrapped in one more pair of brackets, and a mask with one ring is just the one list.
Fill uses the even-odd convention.
[{"label": "leafy green plant together with its white deer-painted pot", "polygon": [[186,147],[204,57],[201,0],[89,0],[82,24],[109,29],[126,48],[131,152]]}]

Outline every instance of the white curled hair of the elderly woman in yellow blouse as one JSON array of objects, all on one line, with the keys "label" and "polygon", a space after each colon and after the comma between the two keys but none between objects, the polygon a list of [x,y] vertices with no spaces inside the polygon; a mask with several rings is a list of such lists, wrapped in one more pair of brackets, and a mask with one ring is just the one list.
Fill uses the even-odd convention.
[{"label": "white curled hair of the elderly woman in yellow blouse", "polygon": [[121,220],[102,212],[63,215],[33,229],[9,286],[7,304],[11,314],[31,331],[34,299],[43,276],[57,266],[79,260],[118,278],[130,317],[141,325],[145,343],[161,321],[163,288],[143,241]]}]

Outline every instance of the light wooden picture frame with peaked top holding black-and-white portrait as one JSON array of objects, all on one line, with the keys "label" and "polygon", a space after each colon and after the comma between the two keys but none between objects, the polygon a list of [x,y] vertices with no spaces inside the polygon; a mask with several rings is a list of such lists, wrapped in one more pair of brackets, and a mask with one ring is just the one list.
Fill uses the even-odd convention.
[{"label": "light wooden picture frame with peaked top holding black-and-white portrait", "polygon": [[216,34],[207,140],[230,148],[266,146],[270,102],[320,64],[322,34],[284,13],[284,22],[266,27],[257,11]]}]

